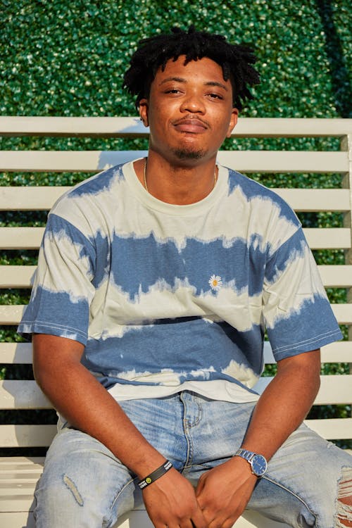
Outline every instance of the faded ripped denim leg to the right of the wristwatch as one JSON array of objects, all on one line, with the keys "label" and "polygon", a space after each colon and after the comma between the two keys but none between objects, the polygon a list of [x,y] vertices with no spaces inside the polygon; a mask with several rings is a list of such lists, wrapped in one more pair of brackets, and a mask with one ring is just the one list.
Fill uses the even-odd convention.
[{"label": "faded ripped denim leg to the right of the wristwatch", "polygon": [[351,455],[301,425],[270,460],[249,508],[279,513],[291,526],[337,527],[341,484],[351,475]]}]

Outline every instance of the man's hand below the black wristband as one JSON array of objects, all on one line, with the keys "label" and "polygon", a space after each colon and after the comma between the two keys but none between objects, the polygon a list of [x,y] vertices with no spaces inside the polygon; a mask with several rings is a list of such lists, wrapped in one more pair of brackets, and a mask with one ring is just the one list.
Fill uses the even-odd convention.
[{"label": "man's hand below the black wristband", "polygon": [[175,469],[143,490],[144,504],[156,528],[207,528],[193,486]]}]

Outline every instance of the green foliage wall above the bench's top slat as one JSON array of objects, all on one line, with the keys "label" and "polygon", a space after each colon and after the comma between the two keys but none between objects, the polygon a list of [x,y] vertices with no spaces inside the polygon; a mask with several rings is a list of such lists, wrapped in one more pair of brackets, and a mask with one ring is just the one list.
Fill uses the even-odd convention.
[{"label": "green foliage wall above the bench's top slat", "polygon": [[252,44],[244,115],[351,115],[348,0],[2,0],[1,115],[134,115],[121,80],[139,39],[172,25]]}]

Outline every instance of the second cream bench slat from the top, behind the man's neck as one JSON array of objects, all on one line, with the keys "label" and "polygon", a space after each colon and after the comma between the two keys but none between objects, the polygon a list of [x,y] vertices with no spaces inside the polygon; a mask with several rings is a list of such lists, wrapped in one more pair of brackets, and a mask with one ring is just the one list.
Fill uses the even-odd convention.
[{"label": "second cream bench slat from the top, behind the man's neck", "polygon": [[[0,170],[99,172],[143,158],[147,151],[1,151]],[[348,172],[348,153],[315,151],[220,151],[222,165],[243,172]]]}]

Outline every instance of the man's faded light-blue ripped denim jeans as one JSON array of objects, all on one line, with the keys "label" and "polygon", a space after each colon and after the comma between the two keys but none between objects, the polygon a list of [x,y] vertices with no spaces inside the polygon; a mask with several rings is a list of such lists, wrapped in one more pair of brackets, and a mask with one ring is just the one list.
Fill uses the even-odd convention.
[{"label": "man's faded light-blue ripped denim jeans", "polygon": [[[196,484],[241,446],[255,403],[184,391],[120,405],[150,444]],[[349,483],[351,496],[351,480],[351,455],[302,425],[270,460],[248,508],[292,527],[343,526],[337,520],[339,483]],[[135,475],[99,441],[68,426],[49,448],[35,496],[37,528],[111,527],[142,501]]]}]

